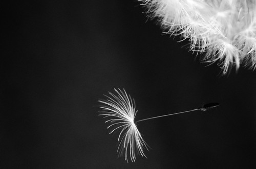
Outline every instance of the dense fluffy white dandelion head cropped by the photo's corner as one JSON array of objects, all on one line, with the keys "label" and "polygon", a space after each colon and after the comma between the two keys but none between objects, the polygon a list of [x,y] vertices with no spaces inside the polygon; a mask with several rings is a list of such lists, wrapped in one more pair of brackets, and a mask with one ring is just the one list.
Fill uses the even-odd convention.
[{"label": "dense fluffy white dandelion head cropped by the photo's corner", "polygon": [[226,74],[240,64],[256,67],[256,1],[138,0],[166,33],[182,35],[204,62],[218,61]]}]

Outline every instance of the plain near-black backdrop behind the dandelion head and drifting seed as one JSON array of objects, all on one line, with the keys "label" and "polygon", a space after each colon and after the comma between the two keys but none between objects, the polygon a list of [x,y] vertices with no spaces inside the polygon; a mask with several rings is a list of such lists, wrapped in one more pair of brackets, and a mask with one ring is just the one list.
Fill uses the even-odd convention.
[{"label": "plain near-black backdrop behind the dandelion head and drifting seed", "polygon": [[[136,1],[2,8],[1,168],[256,166],[256,72],[223,77],[217,64],[205,67]],[[136,119],[221,106],[141,122],[152,150],[126,163],[117,159],[118,135],[97,116],[97,100],[114,87],[135,98]]]}]

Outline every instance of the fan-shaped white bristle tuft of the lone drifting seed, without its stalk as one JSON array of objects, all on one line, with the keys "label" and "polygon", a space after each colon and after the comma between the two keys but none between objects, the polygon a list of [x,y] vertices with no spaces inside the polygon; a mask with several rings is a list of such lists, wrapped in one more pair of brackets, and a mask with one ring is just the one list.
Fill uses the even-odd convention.
[{"label": "fan-shaped white bristle tuft of the lone drifting seed, without its stalk", "polygon": [[105,122],[111,123],[108,127],[113,128],[110,134],[118,129],[120,130],[117,149],[119,156],[124,155],[125,160],[128,162],[130,154],[132,162],[135,162],[137,154],[146,157],[143,149],[147,149],[147,144],[134,122],[137,113],[135,101],[130,95],[127,95],[124,89],[123,91],[115,89],[115,91],[117,95],[109,92],[110,96],[105,95],[108,98],[107,100],[99,100],[99,103],[104,104],[104,106],[100,107],[102,111],[99,111],[101,113],[99,115],[111,117]]}]

